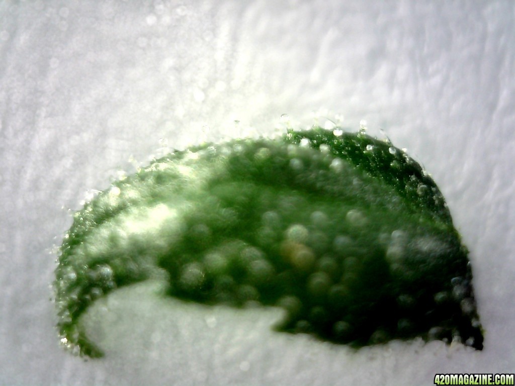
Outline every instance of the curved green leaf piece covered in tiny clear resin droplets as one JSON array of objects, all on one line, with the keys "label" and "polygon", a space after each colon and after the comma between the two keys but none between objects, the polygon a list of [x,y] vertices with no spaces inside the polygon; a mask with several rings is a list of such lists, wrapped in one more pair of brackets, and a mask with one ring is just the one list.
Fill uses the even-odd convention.
[{"label": "curved green leaf piece covered in tiny clear resin droplets", "polygon": [[66,347],[79,319],[149,278],[203,304],[280,306],[280,331],[359,347],[422,337],[483,348],[468,251],[421,166],[363,133],[313,128],[169,154],[74,215],[56,269]]}]

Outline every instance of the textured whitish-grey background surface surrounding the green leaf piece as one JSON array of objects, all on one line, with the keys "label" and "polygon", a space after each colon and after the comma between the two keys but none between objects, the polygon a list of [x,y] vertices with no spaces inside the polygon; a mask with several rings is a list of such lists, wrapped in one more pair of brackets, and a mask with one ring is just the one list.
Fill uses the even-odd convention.
[{"label": "textured whitish-grey background surface surrounding the green leaf piece", "polygon": [[[435,373],[513,372],[514,62],[512,1],[0,2],[0,384],[430,385]],[[140,286],[89,318],[104,359],[64,352],[49,252],[66,208],[166,142],[267,135],[282,114],[298,127],[343,116],[353,131],[364,119],[432,173],[471,250],[484,351],[355,352],[271,331],[277,310],[184,305]]]}]

